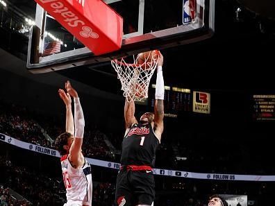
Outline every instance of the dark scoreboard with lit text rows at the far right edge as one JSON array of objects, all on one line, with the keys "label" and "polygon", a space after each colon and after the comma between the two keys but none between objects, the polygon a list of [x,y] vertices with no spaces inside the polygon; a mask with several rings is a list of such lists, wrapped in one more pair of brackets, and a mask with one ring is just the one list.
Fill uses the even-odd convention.
[{"label": "dark scoreboard with lit text rows at the far right edge", "polygon": [[253,119],[256,121],[275,120],[275,95],[253,95]]}]

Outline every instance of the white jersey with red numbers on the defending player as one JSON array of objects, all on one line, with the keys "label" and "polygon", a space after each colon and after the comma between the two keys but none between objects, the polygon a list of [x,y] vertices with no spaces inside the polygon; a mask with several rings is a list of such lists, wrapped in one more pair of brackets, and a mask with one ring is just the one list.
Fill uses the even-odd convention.
[{"label": "white jersey with red numbers on the defending player", "polygon": [[[92,171],[89,162],[81,169],[75,169],[68,155],[61,157],[63,180],[67,191],[67,205],[92,205]],[[72,203],[72,204],[71,204]]]}]

